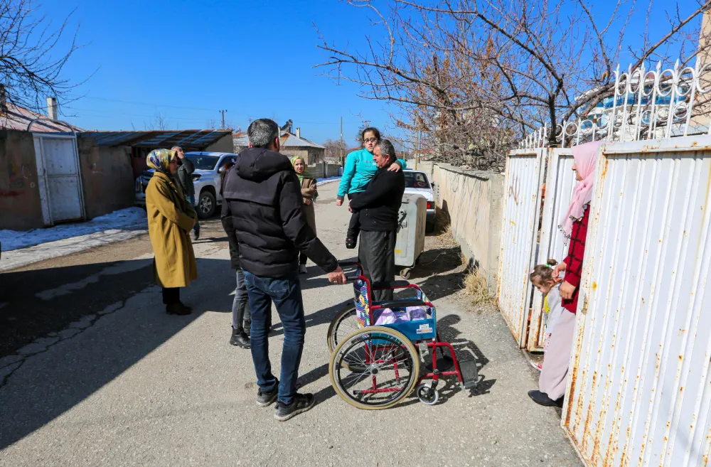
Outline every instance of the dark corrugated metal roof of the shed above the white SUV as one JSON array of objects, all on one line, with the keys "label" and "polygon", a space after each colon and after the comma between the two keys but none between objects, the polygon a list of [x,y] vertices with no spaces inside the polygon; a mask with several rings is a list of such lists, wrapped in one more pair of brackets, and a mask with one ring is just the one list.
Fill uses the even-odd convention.
[{"label": "dark corrugated metal roof of the shed above the white SUV", "polygon": [[166,131],[84,131],[82,137],[94,138],[99,146],[141,146],[203,149],[220,138],[230,136],[231,130],[186,129]]}]

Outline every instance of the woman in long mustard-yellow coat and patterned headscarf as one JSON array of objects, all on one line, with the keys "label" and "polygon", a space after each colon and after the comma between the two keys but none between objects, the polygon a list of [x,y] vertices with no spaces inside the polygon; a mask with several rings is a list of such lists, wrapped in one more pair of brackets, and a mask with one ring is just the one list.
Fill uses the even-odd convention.
[{"label": "woman in long mustard-yellow coat and patterned headscarf", "polygon": [[198,267],[190,241],[197,215],[183,195],[173,174],[178,170],[174,151],[156,149],[146,158],[155,173],[146,188],[148,233],[156,255],[153,272],[156,284],[163,287],[163,303],[169,314],[191,312],[180,300],[180,288],[198,278]]}]

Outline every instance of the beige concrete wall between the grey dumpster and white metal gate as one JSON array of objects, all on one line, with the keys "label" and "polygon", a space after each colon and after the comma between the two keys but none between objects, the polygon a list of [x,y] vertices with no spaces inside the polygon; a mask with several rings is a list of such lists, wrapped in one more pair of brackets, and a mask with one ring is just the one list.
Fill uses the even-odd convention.
[{"label": "beige concrete wall between the grey dumpster and white metal gate", "polygon": [[432,178],[437,203],[449,213],[452,235],[470,264],[481,268],[488,289],[496,291],[501,249],[503,174],[464,171],[435,164]]}]

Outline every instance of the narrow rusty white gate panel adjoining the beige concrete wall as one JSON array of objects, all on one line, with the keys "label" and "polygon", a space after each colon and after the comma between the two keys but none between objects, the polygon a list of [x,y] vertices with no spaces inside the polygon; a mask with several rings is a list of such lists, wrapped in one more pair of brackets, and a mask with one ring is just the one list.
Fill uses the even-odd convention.
[{"label": "narrow rusty white gate panel adjoining the beige concrete wall", "polygon": [[528,272],[535,263],[540,220],[540,190],[547,149],[511,151],[506,159],[506,199],[498,269],[498,306],[520,347],[528,334],[532,286]]}]

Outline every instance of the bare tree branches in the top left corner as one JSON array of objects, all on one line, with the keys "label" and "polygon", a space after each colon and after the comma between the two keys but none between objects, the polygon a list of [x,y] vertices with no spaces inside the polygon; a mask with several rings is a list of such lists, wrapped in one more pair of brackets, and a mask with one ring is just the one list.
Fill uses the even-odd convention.
[{"label": "bare tree branches in the top left corner", "polygon": [[36,3],[0,0],[0,94],[4,92],[6,102],[41,112],[46,97],[62,100],[80,84],[62,73],[80,46],[78,28],[68,45],[63,45],[71,14],[53,26],[35,9]]}]

